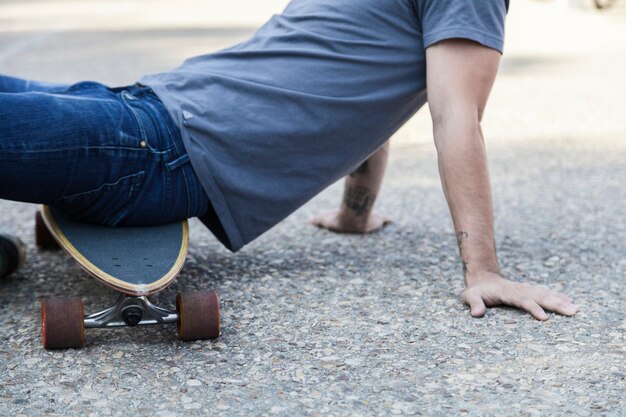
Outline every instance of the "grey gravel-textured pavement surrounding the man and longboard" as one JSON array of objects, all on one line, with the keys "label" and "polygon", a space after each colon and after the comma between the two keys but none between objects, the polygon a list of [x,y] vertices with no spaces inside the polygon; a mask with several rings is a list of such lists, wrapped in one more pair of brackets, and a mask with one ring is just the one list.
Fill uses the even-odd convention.
[{"label": "grey gravel-textured pavement surrounding the man and longboard", "polygon": [[[0,0],[0,73],[132,83],[244,39],[284,3]],[[469,316],[425,109],[392,141],[380,233],[307,225],[340,184],[237,255],[192,222],[187,265],[154,299],[217,289],[218,341],[93,330],[81,350],[45,351],[42,299],[96,311],[115,294],[36,250],[34,206],[0,201],[0,231],[28,245],[0,282],[0,416],[626,415],[626,2],[512,3],[483,126],[498,252],[580,313]]]}]

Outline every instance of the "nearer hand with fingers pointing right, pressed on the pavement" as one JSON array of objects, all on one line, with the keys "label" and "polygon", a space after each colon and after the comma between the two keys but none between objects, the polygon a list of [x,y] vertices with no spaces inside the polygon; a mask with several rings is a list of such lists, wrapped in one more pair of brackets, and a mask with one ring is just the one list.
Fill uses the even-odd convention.
[{"label": "nearer hand with fingers pointing right, pressed on the pavement", "polygon": [[482,317],[486,307],[508,305],[528,311],[537,320],[548,320],[545,310],[573,316],[578,306],[565,294],[544,287],[509,281],[498,274],[483,272],[466,276],[467,288],[461,294],[474,317]]}]

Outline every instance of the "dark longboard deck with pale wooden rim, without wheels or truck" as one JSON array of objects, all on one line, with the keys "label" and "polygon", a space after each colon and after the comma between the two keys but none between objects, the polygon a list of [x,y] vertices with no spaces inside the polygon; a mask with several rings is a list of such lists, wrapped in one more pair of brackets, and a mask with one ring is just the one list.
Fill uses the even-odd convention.
[{"label": "dark longboard deck with pale wooden rim, without wheels or truck", "polygon": [[78,265],[128,295],[158,292],[174,281],[189,247],[187,221],[150,227],[106,227],[76,222],[51,207],[41,210],[57,241]]}]

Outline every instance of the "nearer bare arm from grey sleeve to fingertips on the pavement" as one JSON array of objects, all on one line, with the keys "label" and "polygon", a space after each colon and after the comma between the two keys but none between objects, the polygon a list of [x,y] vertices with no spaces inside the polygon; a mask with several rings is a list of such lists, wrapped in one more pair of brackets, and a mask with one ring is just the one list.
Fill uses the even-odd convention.
[{"label": "nearer bare arm from grey sleeve to fingertips on the pavement", "polygon": [[491,186],[480,122],[500,54],[466,40],[426,51],[428,102],[439,171],[458,239],[466,289],[463,300],[480,317],[486,307],[510,305],[546,320],[545,310],[573,315],[560,293],[504,279],[496,256]]}]

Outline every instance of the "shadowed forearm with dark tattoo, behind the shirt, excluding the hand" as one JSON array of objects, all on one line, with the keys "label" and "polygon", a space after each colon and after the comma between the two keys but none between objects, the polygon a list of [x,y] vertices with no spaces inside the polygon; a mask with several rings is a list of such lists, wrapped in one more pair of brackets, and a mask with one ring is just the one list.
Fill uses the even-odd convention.
[{"label": "shadowed forearm with dark tattoo, behind the shirt, excluding the hand", "polygon": [[351,223],[367,223],[387,167],[389,142],[346,177],[340,215]]}]

